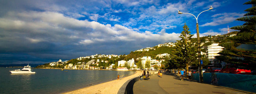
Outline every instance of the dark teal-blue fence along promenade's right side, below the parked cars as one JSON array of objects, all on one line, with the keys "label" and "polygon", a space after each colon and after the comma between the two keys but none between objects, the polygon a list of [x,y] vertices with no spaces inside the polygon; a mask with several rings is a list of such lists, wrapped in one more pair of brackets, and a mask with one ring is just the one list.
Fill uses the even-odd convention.
[{"label": "dark teal-blue fence along promenade's right side, below the parked cars", "polygon": [[[192,74],[192,79],[199,81],[199,74]],[[204,83],[256,93],[256,75],[204,73],[203,79]]]}]

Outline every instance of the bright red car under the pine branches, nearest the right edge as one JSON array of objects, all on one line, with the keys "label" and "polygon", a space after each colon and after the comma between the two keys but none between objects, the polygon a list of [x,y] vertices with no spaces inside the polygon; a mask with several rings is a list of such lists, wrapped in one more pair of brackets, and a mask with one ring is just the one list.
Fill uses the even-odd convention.
[{"label": "bright red car under the pine branches, nearest the right edge", "polygon": [[219,73],[231,73],[231,74],[251,74],[251,70],[248,68],[248,64],[227,64]]}]

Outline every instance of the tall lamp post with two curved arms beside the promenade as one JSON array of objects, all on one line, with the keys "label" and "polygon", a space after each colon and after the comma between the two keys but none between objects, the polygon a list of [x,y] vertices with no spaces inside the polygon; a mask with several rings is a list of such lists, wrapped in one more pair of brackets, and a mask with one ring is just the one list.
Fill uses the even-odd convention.
[{"label": "tall lamp post with two curved arms beside the promenade", "polygon": [[[213,9],[212,6],[208,10],[205,10],[205,11],[209,11],[211,9]],[[203,11],[203,12],[205,12],[205,11]],[[203,12],[201,12],[201,13],[203,13]],[[178,14],[182,14],[182,13],[183,12],[178,11]],[[201,13],[199,13],[199,15]],[[193,15],[191,13],[184,13],[184,14]],[[198,54],[198,62],[199,62],[199,82],[202,83],[203,82],[203,72],[202,72],[203,67],[202,67],[202,64],[201,64],[201,47],[200,47],[199,28],[198,28],[198,22],[197,22],[197,18],[198,18],[199,15],[197,15],[197,17],[195,15],[193,15],[193,16],[196,18],[197,54]]]}]

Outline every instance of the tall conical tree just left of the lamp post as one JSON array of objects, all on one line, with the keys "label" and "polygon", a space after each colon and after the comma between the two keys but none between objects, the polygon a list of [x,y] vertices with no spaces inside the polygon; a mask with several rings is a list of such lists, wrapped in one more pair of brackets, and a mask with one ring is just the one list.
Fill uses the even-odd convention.
[{"label": "tall conical tree just left of the lamp post", "polygon": [[[172,60],[175,59],[179,66],[186,66],[187,71],[189,71],[188,66],[195,63],[197,50],[195,46],[195,41],[191,41],[193,35],[188,31],[189,28],[186,23],[183,26],[183,31],[179,36],[181,40],[177,40],[176,46],[174,47]],[[187,73],[188,75],[188,73]]]}]

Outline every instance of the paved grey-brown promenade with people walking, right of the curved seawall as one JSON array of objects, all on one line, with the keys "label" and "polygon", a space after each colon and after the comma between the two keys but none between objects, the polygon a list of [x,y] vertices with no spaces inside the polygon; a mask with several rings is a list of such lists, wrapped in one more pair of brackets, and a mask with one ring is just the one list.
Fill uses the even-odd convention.
[{"label": "paved grey-brown promenade with people walking, right of the curved seawall", "polygon": [[134,94],[248,94],[243,91],[228,89],[196,81],[181,81],[179,75],[163,73],[162,78],[157,74],[148,80],[137,81],[133,85]]}]

